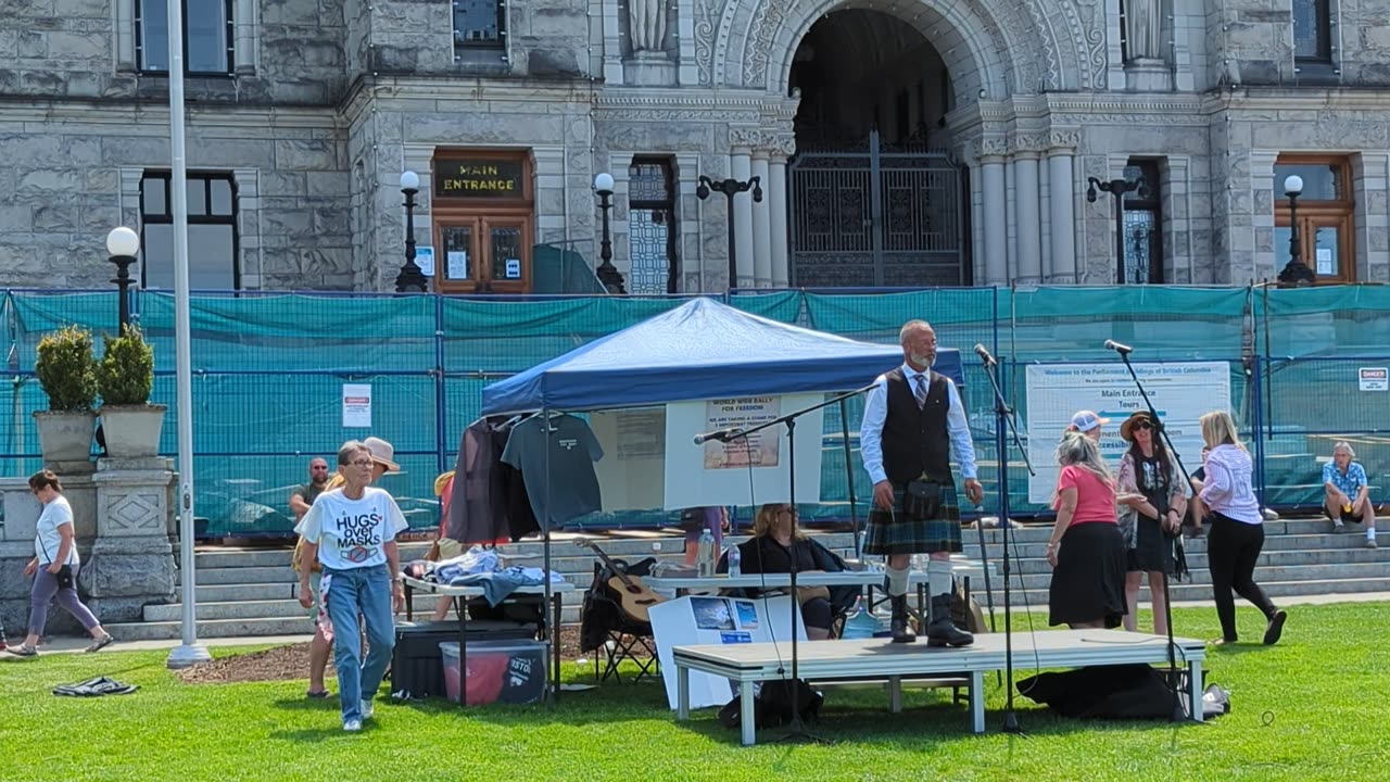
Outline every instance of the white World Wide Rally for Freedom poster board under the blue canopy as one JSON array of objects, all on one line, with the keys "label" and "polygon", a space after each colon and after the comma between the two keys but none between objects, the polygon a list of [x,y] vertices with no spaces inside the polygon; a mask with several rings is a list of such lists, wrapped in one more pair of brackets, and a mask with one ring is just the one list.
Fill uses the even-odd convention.
[{"label": "white World Wide Rally for Freedom poster board under the blue canopy", "polygon": [[[666,405],[667,511],[706,505],[787,502],[791,462],[787,427],[777,424],[746,438],[695,444],[695,436],[721,429],[753,429],[826,401],[824,394],[785,394],[699,399]],[[820,501],[823,410],[796,419],[796,501]]]}]

